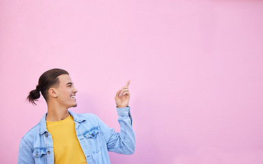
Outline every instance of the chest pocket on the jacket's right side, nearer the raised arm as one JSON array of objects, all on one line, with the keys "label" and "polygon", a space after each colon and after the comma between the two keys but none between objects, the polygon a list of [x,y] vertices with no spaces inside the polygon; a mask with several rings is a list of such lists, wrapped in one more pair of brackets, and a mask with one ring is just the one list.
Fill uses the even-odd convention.
[{"label": "chest pocket on the jacket's right side, nearer the raised arm", "polygon": [[98,153],[102,149],[102,136],[99,127],[90,129],[84,133],[84,137],[88,141],[90,149],[93,153]]}]

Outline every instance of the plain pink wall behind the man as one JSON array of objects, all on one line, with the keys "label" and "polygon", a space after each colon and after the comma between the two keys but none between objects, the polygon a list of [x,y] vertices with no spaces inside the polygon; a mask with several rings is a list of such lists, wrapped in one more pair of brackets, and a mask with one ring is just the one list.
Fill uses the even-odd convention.
[{"label": "plain pink wall behind the man", "polygon": [[68,70],[77,113],[119,130],[131,80],[136,152],[112,163],[263,163],[263,1],[0,1],[1,163],[47,111],[25,102]]}]

